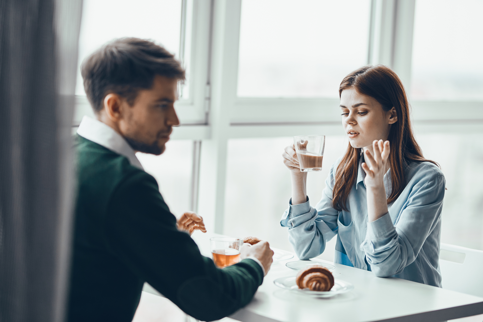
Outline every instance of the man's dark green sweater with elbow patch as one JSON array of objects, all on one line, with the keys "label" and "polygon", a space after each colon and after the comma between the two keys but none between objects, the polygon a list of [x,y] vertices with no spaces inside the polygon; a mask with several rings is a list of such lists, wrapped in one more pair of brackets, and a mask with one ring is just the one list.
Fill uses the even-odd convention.
[{"label": "man's dark green sweater with elbow patch", "polygon": [[216,268],[176,229],[153,176],[79,135],[76,150],[69,322],[131,321],[145,281],[202,321],[250,302],[263,281],[255,261]]}]

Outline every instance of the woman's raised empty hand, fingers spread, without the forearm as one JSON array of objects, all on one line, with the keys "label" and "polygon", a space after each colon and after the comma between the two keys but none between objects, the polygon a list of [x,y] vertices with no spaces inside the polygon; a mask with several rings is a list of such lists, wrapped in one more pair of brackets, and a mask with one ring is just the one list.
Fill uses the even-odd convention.
[{"label": "woman's raised empty hand, fingers spread, without the forearm", "polygon": [[366,172],[364,183],[368,188],[384,187],[384,175],[386,174],[386,163],[389,157],[389,141],[374,140],[372,142],[374,155],[369,149],[364,151],[364,160],[362,169]]}]

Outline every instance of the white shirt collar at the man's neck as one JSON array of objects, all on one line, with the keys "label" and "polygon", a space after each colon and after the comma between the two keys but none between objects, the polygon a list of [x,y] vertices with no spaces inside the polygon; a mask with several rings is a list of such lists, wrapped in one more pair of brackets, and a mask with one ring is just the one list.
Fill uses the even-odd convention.
[{"label": "white shirt collar at the man's neck", "polygon": [[136,153],[132,147],[128,145],[128,142],[126,142],[121,134],[115,132],[109,125],[97,119],[84,116],[77,129],[77,134],[117,154],[125,156],[131,165],[144,170],[141,162],[136,158]]}]

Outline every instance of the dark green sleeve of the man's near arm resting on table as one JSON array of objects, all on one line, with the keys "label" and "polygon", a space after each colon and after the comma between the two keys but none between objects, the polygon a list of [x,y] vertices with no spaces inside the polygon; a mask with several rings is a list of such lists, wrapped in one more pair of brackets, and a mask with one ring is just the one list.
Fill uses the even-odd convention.
[{"label": "dark green sleeve of the man's near arm resting on table", "polygon": [[204,257],[159,193],[156,180],[137,172],[111,198],[105,221],[115,256],[190,316],[219,320],[248,304],[263,281],[251,259],[225,269]]}]

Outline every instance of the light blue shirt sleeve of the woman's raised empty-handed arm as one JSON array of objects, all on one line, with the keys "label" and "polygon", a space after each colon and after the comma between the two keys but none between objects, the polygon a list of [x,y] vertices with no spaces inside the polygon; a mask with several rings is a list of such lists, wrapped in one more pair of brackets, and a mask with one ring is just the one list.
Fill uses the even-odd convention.
[{"label": "light blue shirt sleeve of the woman's raised empty-handed arm", "polygon": [[389,213],[368,222],[366,238],[360,249],[366,253],[376,276],[399,274],[414,262],[427,236],[440,220],[444,189],[444,176],[435,174],[414,185],[396,225]]}]

